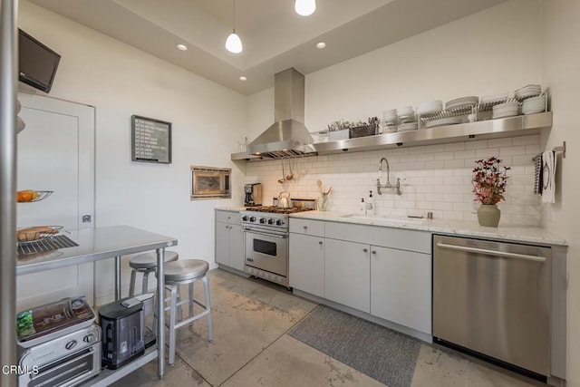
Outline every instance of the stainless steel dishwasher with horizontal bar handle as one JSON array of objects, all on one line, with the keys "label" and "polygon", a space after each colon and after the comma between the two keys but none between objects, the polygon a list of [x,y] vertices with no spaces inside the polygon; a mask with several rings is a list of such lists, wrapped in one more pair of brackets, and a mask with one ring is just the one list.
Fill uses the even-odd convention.
[{"label": "stainless steel dishwasher with horizontal bar handle", "polygon": [[433,338],[550,375],[549,247],[433,237]]}]

